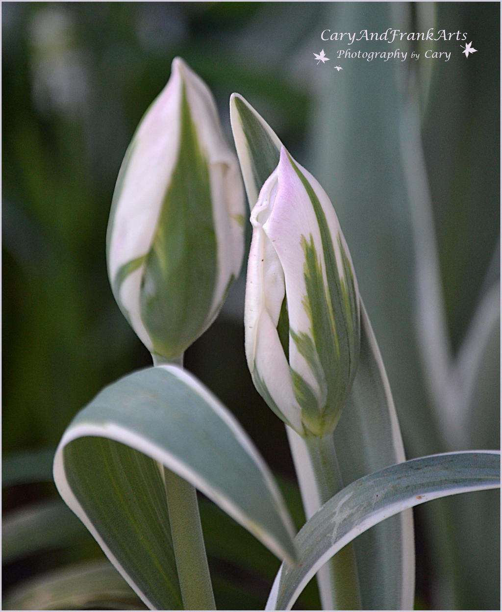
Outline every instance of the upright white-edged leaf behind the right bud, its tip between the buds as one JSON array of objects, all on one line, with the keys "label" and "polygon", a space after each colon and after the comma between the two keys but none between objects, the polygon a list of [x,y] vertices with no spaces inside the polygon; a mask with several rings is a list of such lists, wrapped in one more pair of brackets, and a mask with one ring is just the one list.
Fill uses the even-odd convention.
[{"label": "upright white-edged leaf behind the right bud, its tip between the buds", "polygon": [[[270,126],[244,100],[234,94],[232,130],[242,166],[246,191],[251,198],[275,170],[281,143]],[[268,174],[263,168],[260,145],[267,151]],[[337,211],[338,212],[338,211]],[[349,244],[350,248],[350,244]],[[357,269],[356,269],[356,274]],[[320,507],[319,491],[303,439],[287,427],[293,461],[307,518]],[[352,391],[334,431],[335,448],[345,485],[365,474],[404,461],[404,449],[388,379],[366,310],[361,304],[361,351]],[[411,513],[404,512],[355,542],[356,559],[365,608],[410,608],[415,583],[415,552]],[[386,567],[385,584],[382,567]],[[327,577],[318,577],[320,588]]]}]

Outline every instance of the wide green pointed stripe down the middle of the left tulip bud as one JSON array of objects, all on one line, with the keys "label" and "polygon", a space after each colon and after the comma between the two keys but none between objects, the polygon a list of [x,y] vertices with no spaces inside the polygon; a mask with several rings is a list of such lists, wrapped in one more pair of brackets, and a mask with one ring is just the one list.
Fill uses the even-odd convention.
[{"label": "wide green pointed stripe down the middle of the left tulip bud", "polygon": [[217,248],[209,167],[183,86],[180,151],[163,201],[141,288],[141,318],[153,351],[181,354],[205,329]]}]

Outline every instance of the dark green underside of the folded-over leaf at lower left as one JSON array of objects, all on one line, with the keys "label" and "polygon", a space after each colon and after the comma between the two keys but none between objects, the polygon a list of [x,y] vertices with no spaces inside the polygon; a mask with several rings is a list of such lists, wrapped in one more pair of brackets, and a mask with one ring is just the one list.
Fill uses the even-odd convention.
[{"label": "dark green underside of the folded-over leaf at lower left", "polygon": [[[105,404],[101,401],[98,406]],[[128,398],[115,401],[127,405]],[[134,398],[129,403],[134,406]],[[180,610],[182,595],[158,462],[131,443],[111,439],[109,430],[120,430],[120,425],[98,414],[81,427],[68,428],[54,461],[56,486],[142,601],[152,609]],[[131,438],[137,435],[132,427],[120,433],[125,439],[129,433]],[[114,437],[122,437],[120,433]]]}]

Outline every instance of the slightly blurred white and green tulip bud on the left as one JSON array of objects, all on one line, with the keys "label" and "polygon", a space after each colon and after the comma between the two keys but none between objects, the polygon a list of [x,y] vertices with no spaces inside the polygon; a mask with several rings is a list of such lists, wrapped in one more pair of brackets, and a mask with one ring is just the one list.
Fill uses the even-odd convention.
[{"label": "slightly blurred white and green tulip bud on the left", "polygon": [[244,252],[244,192],[206,84],[182,61],[125,154],[108,223],[108,275],[153,356],[179,357],[213,322]]}]

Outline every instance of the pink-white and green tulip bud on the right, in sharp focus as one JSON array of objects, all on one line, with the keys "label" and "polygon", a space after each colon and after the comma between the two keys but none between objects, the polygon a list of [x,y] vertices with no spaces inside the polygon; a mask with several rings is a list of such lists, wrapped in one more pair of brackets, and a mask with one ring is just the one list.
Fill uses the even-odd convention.
[{"label": "pink-white and green tulip bud on the right, in sharp focus", "polygon": [[352,387],[360,298],[333,206],[281,147],[251,213],[246,359],[271,409],[301,436],[332,433]]}]

